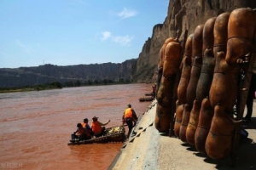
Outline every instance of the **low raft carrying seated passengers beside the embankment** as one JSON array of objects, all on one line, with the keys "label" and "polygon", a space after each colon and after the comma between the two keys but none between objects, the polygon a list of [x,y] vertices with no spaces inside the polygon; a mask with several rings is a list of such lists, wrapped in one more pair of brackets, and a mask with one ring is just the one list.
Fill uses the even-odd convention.
[{"label": "low raft carrying seated passengers beside the embankment", "polygon": [[68,144],[104,144],[104,143],[119,143],[125,141],[125,127],[109,127],[105,129],[105,133],[98,138],[79,140]]}]

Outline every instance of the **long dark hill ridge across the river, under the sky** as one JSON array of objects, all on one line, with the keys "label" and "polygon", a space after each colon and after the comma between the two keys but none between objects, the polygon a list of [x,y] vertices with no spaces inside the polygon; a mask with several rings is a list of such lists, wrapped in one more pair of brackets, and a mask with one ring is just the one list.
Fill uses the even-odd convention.
[{"label": "long dark hill ridge across the river, under the sky", "polygon": [[84,82],[119,79],[133,81],[137,59],[129,59],[121,64],[103,63],[93,65],[39,65],[0,69],[0,87],[22,87],[49,82]]}]

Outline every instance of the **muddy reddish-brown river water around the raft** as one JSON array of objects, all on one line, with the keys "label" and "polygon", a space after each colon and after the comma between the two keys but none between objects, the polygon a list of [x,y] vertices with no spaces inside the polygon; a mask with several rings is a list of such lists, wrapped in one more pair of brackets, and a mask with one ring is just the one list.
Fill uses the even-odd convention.
[{"label": "muddy reddish-brown river water around the raft", "polygon": [[86,117],[119,125],[128,104],[142,116],[146,93],[151,84],[0,94],[0,169],[107,169],[122,144],[67,145],[70,134]]}]

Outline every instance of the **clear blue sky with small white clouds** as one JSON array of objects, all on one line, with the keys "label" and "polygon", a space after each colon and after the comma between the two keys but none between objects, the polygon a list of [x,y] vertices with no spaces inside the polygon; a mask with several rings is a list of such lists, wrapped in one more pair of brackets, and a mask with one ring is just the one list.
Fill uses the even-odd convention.
[{"label": "clear blue sky with small white clouds", "polygon": [[0,68],[137,59],[168,0],[1,0]]}]

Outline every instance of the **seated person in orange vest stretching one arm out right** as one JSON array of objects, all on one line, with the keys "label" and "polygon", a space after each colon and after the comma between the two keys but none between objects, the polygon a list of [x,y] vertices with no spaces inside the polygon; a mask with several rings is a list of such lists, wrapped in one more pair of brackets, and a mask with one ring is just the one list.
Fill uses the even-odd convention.
[{"label": "seated person in orange vest stretching one arm out right", "polygon": [[110,122],[110,120],[108,120],[108,122],[102,123],[98,121],[99,117],[92,117],[92,123],[91,123],[91,130],[94,133],[94,135],[96,136],[96,138],[100,137],[103,135],[103,133],[105,132],[105,125],[108,125],[108,122]]}]

